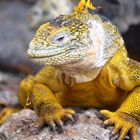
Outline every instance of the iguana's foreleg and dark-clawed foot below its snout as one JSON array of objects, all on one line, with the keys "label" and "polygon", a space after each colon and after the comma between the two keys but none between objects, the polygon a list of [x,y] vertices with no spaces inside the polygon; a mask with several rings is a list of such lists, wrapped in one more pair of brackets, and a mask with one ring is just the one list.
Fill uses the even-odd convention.
[{"label": "iguana's foreleg and dark-clawed foot below its snout", "polygon": [[53,131],[61,132],[63,120],[73,119],[75,112],[71,109],[63,109],[57,102],[55,95],[44,84],[36,83],[32,91],[33,108],[38,114],[41,124],[49,124]]}]

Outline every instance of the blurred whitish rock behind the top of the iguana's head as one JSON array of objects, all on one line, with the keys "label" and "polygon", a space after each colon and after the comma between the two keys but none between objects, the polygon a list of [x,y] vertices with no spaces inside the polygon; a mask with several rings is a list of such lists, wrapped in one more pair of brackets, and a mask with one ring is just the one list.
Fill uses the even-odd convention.
[{"label": "blurred whitish rock behind the top of the iguana's head", "polygon": [[40,0],[29,11],[28,20],[31,29],[60,15],[72,13],[74,4],[71,0]]}]

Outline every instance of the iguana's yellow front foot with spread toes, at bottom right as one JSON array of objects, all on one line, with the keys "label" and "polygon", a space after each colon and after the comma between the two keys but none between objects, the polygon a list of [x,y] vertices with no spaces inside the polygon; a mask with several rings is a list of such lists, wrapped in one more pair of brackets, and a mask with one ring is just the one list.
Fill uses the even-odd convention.
[{"label": "iguana's yellow front foot with spread toes, at bottom right", "polygon": [[137,140],[139,123],[130,115],[122,112],[110,112],[108,110],[101,110],[107,120],[104,125],[114,125],[112,136],[120,132],[118,140],[123,140],[128,132],[130,132],[131,140]]}]

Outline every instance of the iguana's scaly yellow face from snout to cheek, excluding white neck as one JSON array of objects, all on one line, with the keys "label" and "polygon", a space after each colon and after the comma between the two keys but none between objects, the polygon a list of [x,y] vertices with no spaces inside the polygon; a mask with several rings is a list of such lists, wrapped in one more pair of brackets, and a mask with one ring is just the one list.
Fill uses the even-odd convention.
[{"label": "iguana's scaly yellow face from snout to cheek, excluding white neck", "polygon": [[42,25],[28,49],[29,57],[44,65],[74,63],[86,57],[86,25],[72,15],[60,16]]}]

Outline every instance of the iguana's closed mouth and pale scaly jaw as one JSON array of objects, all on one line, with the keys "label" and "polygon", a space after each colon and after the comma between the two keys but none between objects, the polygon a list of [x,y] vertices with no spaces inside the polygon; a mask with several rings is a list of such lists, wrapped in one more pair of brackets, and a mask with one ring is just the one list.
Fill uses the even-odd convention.
[{"label": "iguana's closed mouth and pale scaly jaw", "polygon": [[64,65],[81,61],[86,56],[86,47],[71,45],[60,47],[30,46],[27,53],[31,61],[43,65]]}]

